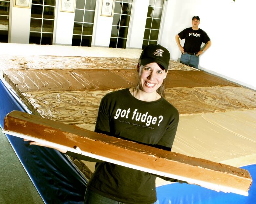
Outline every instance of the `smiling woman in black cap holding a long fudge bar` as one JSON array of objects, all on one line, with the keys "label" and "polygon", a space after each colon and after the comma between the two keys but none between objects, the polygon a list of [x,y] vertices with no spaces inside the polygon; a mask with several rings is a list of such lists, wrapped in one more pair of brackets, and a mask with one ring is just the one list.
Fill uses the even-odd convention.
[{"label": "smiling woman in black cap holding a long fudge bar", "polygon": [[[108,93],[102,98],[95,131],[171,150],[179,113],[164,99],[163,81],[167,76],[169,60],[170,54],[166,48],[161,45],[146,46],[137,65],[137,87]],[[87,185],[84,200],[86,204],[151,204],[157,200],[156,175],[59,151],[78,159],[97,162]]]}]

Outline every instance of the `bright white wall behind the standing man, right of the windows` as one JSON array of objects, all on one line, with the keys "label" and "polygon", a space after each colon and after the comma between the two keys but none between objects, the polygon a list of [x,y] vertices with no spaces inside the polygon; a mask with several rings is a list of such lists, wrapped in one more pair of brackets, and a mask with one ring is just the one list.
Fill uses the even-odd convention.
[{"label": "bright white wall behind the standing man, right of the windows", "polygon": [[162,45],[172,59],[180,58],[175,35],[190,27],[191,18],[198,15],[199,27],[212,41],[200,57],[199,69],[256,90],[255,9],[255,0],[168,0]]}]

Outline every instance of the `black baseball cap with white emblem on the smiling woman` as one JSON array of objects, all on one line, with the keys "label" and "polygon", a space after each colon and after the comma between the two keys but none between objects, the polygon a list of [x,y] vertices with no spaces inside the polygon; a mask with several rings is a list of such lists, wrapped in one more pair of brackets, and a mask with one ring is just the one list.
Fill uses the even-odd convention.
[{"label": "black baseball cap with white emblem on the smiling woman", "polygon": [[152,62],[156,62],[161,65],[161,68],[164,68],[165,71],[168,71],[169,61],[170,61],[169,51],[161,46],[156,44],[150,44],[144,48],[140,54],[140,63],[146,65]]}]

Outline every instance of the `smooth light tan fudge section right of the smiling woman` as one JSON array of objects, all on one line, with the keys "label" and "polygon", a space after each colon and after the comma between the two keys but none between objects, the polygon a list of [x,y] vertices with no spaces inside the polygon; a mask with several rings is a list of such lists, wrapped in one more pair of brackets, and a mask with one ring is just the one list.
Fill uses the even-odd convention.
[{"label": "smooth light tan fudge section right of the smiling woman", "polygon": [[172,151],[232,166],[256,163],[256,109],[180,117]]}]

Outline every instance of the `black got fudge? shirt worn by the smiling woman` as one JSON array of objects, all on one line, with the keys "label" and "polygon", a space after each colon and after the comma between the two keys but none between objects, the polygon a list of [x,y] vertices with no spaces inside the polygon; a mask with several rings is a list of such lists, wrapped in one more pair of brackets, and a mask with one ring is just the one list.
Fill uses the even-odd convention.
[{"label": "black got fudge? shirt worn by the smiling woman", "polygon": [[[178,110],[164,98],[145,102],[133,97],[129,89],[123,89],[102,98],[95,131],[143,144],[172,147],[178,122]],[[156,175],[147,172],[99,162],[88,188],[119,202],[149,204],[156,201],[155,180]]]}]

